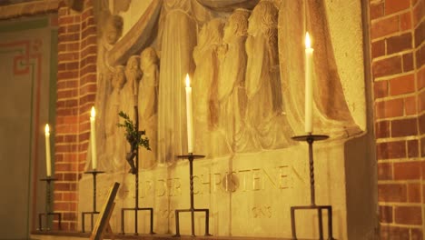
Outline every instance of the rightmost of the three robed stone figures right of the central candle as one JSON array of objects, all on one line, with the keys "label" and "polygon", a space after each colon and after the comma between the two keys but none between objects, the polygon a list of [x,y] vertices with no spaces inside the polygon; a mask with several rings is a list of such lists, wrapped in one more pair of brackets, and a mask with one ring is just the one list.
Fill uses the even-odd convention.
[{"label": "rightmost of the three robed stone figures right of the central candle", "polygon": [[288,145],[292,135],[282,112],[277,20],[278,10],[275,5],[261,1],[252,10],[246,40],[247,117],[249,128],[263,149]]}]

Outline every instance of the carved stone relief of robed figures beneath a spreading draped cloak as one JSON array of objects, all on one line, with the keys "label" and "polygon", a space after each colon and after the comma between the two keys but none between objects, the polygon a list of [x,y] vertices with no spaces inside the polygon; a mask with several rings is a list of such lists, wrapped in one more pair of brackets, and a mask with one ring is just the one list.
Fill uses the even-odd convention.
[{"label": "carved stone relief of robed figures beneath a spreading draped cloak", "polygon": [[[292,27],[282,25],[282,15],[274,1],[262,0],[252,10],[235,7],[237,2],[233,3],[232,12],[214,18],[213,15],[222,9],[220,6],[210,3],[212,10],[200,0],[164,1],[157,38],[142,53],[133,53],[137,55],[131,56],[125,67],[115,67],[114,75],[126,76],[119,90],[119,109],[133,119],[133,105],[137,104],[141,130],[145,129],[151,140],[152,152],[140,153],[143,167],[173,163],[176,155],[186,152],[183,79],[187,73],[193,75],[196,152],[214,157],[283,148],[295,144],[291,140],[295,132],[303,132],[303,110],[299,107],[303,105],[303,84],[299,83],[303,77],[298,75],[295,80],[282,68],[285,64],[293,65],[292,56],[288,55],[291,51],[281,46],[284,44],[281,32],[288,32]],[[288,4],[280,5],[281,12],[285,5]],[[109,27],[115,27],[109,28],[110,35],[105,30],[104,41],[114,45],[120,35],[116,27],[120,20],[114,15],[108,19],[111,21]],[[312,15],[310,21],[324,20],[317,14]],[[322,29],[315,35],[326,34],[326,31]],[[322,45],[329,43],[318,40],[316,44],[321,51],[320,48],[326,49]],[[280,48],[285,55],[280,54]],[[107,55],[108,48],[105,49],[104,55]],[[302,58],[301,45],[296,49]],[[315,65],[320,64],[316,59]],[[300,72],[301,67],[298,66]],[[315,94],[318,95],[315,111],[320,116],[315,124],[324,128],[331,124],[343,129],[354,126],[354,129],[351,113],[344,107],[336,70],[330,63],[315,67],[320,74],[322,68],[335,77],[331,85],[324,79],[318,81],[318,85],[327,85],[332,94]],[[105,107],[105,122],[116,121],[108,116],[113,109],[108,106],[112,101],[109,98],[115,97],[115,88],[113,84]],[[300,91],[294,93],[293,89]],[[330,110],[327,103],[337,98],[340,103],[335,103]],[[336,109],[343,114],[335,115]],[[105,128],[112,126],[105,125]],[[111,129],[107,131],[106,139],[112,133]]]}]

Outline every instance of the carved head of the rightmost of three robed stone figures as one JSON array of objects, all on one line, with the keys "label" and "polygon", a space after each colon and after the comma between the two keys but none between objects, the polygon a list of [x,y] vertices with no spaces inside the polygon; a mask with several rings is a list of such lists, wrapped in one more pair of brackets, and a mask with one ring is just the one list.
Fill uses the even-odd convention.
[{"label": "carved head of the rightmost of three robed stone figures", "polygon": [[261,1],[252,10],[249,18],[248,33],[256,35],[258,32],[270,35],[277,29],[278,9],[270,1]]}]

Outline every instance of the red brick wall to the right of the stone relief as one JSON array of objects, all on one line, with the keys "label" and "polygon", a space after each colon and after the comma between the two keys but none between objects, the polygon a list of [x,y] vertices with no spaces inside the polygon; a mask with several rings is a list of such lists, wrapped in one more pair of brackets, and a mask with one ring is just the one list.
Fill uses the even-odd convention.
[{"label": "red brick wall to the right of the stone relief", "polygon": [[381,239],[424,239],[425,0],[371,0]]}]

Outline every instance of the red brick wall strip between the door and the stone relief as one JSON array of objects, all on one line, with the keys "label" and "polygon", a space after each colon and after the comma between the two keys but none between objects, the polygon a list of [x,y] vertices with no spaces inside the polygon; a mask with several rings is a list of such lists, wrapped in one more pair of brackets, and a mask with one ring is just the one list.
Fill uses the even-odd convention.
[{"label": "red brick wall strip between the door and the stone relief", "polygon": [[[77,181],[84,171],[90,135],[90,108],[96,91],[94,5],[82,13],[58,9],[58,73],[55,126],[54,211],[63,213],[63,229],[77,229]],[[57,222],[54,222],[57,227]]]}]

